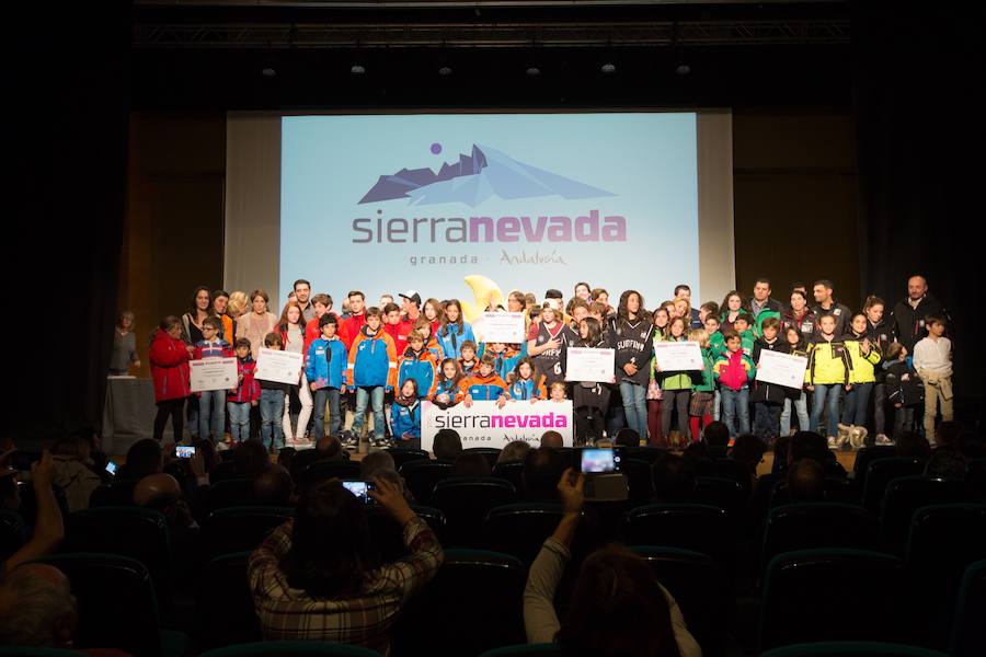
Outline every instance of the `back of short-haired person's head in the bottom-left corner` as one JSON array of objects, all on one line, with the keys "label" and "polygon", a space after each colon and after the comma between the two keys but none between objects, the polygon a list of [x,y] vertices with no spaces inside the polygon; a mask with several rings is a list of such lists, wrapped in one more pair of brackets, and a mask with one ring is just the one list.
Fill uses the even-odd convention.
[{"label": "back of short-haired person's head in the bottom-left corner", "polygon": [[78,620],[69,580],[55,566],[24,564],[0,580],[0,645],[70,648]]}]

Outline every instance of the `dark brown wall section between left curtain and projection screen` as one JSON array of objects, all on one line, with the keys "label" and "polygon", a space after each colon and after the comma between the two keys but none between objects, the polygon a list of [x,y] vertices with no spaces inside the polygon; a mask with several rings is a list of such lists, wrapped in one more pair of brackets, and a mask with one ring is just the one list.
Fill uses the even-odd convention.
[{"label": "dark brown wall section between left curtain and projection screen", "polygon": [[[146,351],[148,333],[188,310],[195,287],[222,285],[226,115],[136,112],[129,135],[118,304],[136,314]],[[150,376],[141,365],[138,376]]]}]

